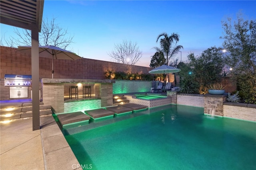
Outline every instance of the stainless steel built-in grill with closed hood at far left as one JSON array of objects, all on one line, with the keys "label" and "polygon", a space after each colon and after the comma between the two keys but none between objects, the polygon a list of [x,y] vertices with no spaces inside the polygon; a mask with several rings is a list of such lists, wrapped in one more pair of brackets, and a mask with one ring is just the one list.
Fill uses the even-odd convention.
[{"label": "stainless steel built-in grill with closed hood at far left", "polygon": [[4,75],[4,86],[30,86],[32,82],[31,75],[16,75],[6,74]]}]

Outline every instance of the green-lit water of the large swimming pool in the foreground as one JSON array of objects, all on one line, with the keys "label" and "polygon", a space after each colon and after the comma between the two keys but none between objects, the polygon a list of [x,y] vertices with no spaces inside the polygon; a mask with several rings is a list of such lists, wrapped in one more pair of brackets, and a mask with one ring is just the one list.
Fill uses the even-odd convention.
[{"label": "green-lit water of the large swimming pool in the foreground", "polygon": [[126,118],[66,132],[83,169],[255,169],[256,123],[212,118],[204,115],[203,108],[182,105],[157,107]]}]

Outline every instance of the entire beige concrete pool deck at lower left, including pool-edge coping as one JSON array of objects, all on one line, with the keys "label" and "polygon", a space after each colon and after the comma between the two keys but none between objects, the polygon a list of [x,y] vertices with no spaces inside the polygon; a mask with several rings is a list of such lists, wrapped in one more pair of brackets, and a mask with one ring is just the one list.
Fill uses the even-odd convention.
[{"label": "entire beige concrete pool deck at lower left, including pool-edge coping", "polygon": [[40,127],[33,131],[32,119],[0,124],[1,170],[80,169],[54,118],[40,117]]}]

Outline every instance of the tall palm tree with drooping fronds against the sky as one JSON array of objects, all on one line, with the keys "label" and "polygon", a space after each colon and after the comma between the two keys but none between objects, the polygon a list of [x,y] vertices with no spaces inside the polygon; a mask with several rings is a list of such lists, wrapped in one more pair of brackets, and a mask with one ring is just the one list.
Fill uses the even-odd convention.
[{"label": "tall palm tree with drooping fronds against the sky", "polygon": [[[174,57],[180,49],[183,49],[182,45],[176,45],[177,42],[180,40],[180,36],[176,33],[172,33],[171,36],[169,36],[166,32],[163,32],[162,34],[159,34],[156,42],[158,42],[160,37],[164,37],[160,39],[160,48],[155,47],[156,50],[160,50],[164,53],[166,56],[166,65],[169,65],[169,59],[171,57]],[[175,46],[174,46],[175,45]]]}]

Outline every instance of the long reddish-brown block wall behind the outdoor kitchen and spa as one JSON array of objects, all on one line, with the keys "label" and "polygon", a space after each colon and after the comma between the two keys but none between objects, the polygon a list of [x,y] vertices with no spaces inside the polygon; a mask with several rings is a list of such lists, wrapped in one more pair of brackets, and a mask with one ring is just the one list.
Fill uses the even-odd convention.
[{"label": "long reddish-brown block wall behind the outdoor kitchen and spa", "polygon": [[[17,48],[0,46],[0,78],[4,78],[5,74],[32,74],[31,54],[16,50]],[[56,79],[105,79],[104,73],[107,70],[146,74],[152,68],[88,58],[75,61],[54,59],[54,78]],[[52,78],[52,59],[39,57],[39,77]]]}]

